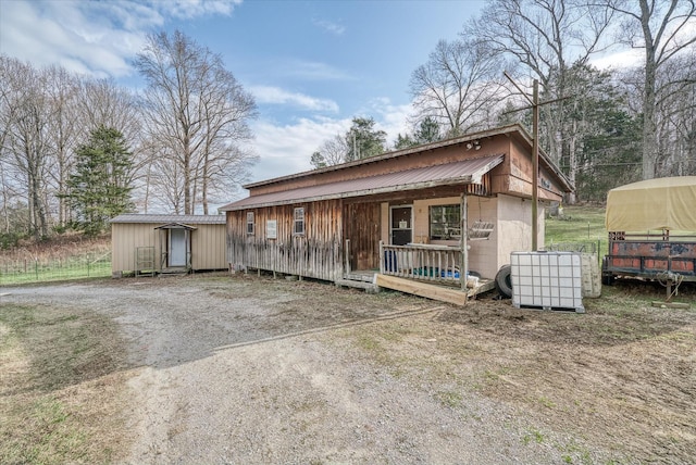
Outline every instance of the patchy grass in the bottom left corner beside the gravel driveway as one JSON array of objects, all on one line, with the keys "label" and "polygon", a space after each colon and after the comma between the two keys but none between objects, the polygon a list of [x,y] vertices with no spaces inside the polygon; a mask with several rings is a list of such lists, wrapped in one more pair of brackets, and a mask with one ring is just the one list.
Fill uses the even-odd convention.
[{"label": "patchy grass in the bottom left corner beside the gravel driveway", "polygon": [[0,336],[0,463],[119,460],[127,375],[115,324],[84,311],[3,304]]}]

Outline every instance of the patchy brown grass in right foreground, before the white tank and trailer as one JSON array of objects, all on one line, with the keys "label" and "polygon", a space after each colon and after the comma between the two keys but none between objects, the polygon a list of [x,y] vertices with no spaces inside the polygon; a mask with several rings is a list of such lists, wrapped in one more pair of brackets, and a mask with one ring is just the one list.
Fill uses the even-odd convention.
[{"label": "patchy brown grass in right foreground, before the white tank and trailer", "polygon": [[621,281],[585,299],[585,314],[482,297],[346,332],[462,416],[472,395],[509,405],[522,442],[554,447],[559,463],[694,463],[696,286],[680,293],[688,310],[654,307],[661,296],[659,285]]}]

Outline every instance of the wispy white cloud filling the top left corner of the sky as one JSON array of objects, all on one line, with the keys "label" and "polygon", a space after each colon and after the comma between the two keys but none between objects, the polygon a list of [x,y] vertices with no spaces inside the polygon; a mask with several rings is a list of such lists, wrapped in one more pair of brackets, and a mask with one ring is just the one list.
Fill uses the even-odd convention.
[{"label": "wispy white cloud filling the top left corner of the sky", "polygon": [[98,77],[134,73],[129,61],[166,17],[228,15],[238,0],[0,1],[0,53]]}]

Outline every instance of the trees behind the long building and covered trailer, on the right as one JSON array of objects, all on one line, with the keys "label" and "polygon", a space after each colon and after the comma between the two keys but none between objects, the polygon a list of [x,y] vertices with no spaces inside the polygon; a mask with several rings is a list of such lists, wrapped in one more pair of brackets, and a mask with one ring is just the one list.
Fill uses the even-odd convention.
[{"label": "trees behind the long building and covered trailer, on the right", "polygon": [[[531,93],[524,87],[536,80],[539,143],[575,186],[570,202],[604,201],[639,179],[696,175],[695,13],[694,0],[492,0],[412,72],[413,131],[381,150],[531,127],[520,90]],[[627,49],[642,52],[638,63],[592,64]],[[351,140],[374,138],[360,120],[370,121],[355,118],[312,154],[314,166],[348,161]]]}]

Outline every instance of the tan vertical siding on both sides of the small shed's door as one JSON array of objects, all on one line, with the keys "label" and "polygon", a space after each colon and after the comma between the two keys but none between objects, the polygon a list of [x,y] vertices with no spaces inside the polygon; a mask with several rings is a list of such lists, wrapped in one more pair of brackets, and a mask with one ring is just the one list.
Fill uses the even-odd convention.
[{"label": "tan vertical siding on both sides of the small shed's door", "polygon": [[[136,271],[136,249],[138,247],[154,248],[156,269],[161,269],[161,247],[166,247],[165,240],[160,240],[160,231],[151,223],[114,223],[111,225],[112,272],[129,273]],[[191,268],[226,269],[225,260],[225,225],[191,225]]]}]

